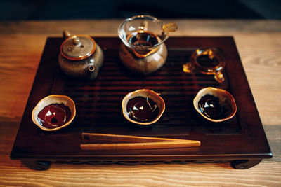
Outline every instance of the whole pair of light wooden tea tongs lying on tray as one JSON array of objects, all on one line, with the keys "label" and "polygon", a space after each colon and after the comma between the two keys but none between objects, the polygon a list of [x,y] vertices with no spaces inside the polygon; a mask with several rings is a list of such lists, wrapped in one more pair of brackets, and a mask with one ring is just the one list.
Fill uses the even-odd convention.
[{"label": "whole pair of light wooden tea tongs lying on tray", "polygon": [[168,139],[156,137],[136,137],[129,135],[82,133],[82,139],[102,140],[105,144],[80,144],[81,150],[118,150],[118,149],[152,149],[152,148],[187,148],[200,146],[201,142],[188,139]]}]

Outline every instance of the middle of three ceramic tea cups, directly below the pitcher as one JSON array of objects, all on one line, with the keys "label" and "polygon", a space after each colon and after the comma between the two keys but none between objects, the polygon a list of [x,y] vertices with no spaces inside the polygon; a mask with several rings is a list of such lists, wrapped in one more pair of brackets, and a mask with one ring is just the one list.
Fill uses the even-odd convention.
[{"label": "middle of three ceramic tea cups, directly below the pitcher", "polygon": [[161,118],[165,111],[165,102],[152,90],[136,90],[129,92],[122,100],[122,111],[131,123],[150,125]]}]

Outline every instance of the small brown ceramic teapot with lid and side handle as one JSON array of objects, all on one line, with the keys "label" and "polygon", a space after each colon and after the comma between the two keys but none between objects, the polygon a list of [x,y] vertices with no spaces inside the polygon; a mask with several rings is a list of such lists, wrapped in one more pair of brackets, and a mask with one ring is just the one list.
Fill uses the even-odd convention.
[{"label": "small brown ceramic teapot with lid and side handle", "polygon": [[103,66],[103,50],[90,36],[64,31],[58,62],[65,74],[94,79]]}]

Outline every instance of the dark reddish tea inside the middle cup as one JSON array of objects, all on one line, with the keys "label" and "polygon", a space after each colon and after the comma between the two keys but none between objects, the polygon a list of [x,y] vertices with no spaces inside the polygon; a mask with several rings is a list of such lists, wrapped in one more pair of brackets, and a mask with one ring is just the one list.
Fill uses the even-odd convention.
[{"label": "dark reddish tea inside the middle cup", "polygon": [[130,99],[126,109],[129,113],[129,118],[138,122],[155,120],[159,113],[157,104],[148,97],[134,97]]}]

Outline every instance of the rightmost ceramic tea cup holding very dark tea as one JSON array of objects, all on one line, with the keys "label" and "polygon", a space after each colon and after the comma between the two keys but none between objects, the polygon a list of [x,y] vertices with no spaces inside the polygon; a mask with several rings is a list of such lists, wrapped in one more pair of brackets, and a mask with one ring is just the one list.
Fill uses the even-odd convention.
[{"label": "rightmost ceramic tea cup holding very dark tea", "polygon": [[193,106],[211,122],[222,122],[235,116],[237,106],[233,96],[223,89],[202,88],[193,99]]}]

